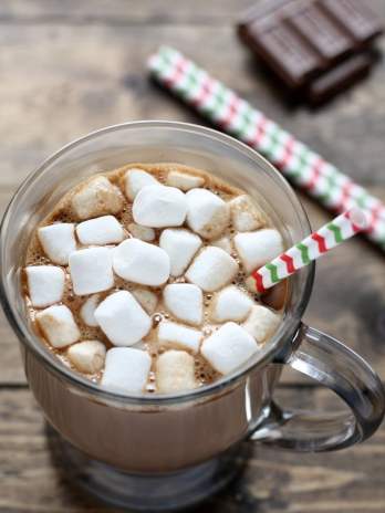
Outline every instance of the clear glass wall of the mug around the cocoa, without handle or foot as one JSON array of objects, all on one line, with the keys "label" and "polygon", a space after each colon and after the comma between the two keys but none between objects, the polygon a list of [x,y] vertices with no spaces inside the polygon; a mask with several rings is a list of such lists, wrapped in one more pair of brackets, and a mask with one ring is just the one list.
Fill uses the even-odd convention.
[{"label": "clear glass wall of the mug around the cocoa, without handle or foot", "polygon": [[[137,406],[129,398],[116,398],[112,406],[94,385],[72,374],[41,344],[28,324],[20,294],[23,254],[39,221],[82,178],[135,161],[187,164],[246,189],[281,227],[288,243],[302,239],[309,226],[291,189],[260,156],[212,130],[165,122],[92,134],[44,163],[17,192],[2,226],[3,303],[27,347],[27,377],[48,420],[93,458],[132,472],[169,471],[218,454],[258,422],[278,377],[277,366],[267,366],[272,356],[269,344],[261,352],[267,357],[262,364],[254,363],[254,370],[236,381],[218,384],[199,399],[187,396],[178,404],[156,406],[154,398],[153,406]],[[292,280],[284,323],[287,326],[291,320],[291,327],[284,336],[277,335],[280,347],[290,346],[310,282],[309,270]]]}]

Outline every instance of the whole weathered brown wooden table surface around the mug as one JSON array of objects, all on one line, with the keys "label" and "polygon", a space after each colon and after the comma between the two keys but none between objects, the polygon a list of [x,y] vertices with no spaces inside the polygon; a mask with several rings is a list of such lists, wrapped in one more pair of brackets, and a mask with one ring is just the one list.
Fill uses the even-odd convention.
[{"label": "whole weathered brown wooden table surface around the mug", "polygon": [[[147,80],[145,62],[175,45],[385,200],[385,65],[312,112],[289,108],[235,36],[250,0],[2,0],[0,206],[48,155],[95,128],[131,119],[205,123]],[[385,17],[383,0],[371,0]],[[385,41],[379,43],[385,50]],[[301,196],[314,227],[329,214]],[[305,321],[358,350],[385,378],[385,259],[356,239],[318,264]],[[0,321],[0,512],[104,512],[71,488],[48,450],[18,343]],[[288,374],[281,399],[325,406],[327,392]],[[385,511],[385,427],[327,454],[256,447],[242,478],[200,513]]]}]

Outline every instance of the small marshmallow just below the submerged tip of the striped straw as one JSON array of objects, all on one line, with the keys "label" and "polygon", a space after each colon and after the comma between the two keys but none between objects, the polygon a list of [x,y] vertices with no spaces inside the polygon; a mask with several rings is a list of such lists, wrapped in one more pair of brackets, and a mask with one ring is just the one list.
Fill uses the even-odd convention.
[{"label": "small marshmallow just below the submerged tip of the striped straw", "polygon": [[253,304],[254,302],[237,286],[227,286],[214,299],[211,318],[218,323],[244,321]]}]

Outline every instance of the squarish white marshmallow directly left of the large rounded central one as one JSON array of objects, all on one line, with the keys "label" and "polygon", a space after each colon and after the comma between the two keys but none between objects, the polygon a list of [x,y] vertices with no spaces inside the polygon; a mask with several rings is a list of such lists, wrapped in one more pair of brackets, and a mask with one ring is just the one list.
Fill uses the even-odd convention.
[{"label": "squarish white marshmallow directly left of the large rounded central one", "polygon": [[110,248],[86,248],[70,254],[70,274],[76,295],[107,291],[114,285]]}]

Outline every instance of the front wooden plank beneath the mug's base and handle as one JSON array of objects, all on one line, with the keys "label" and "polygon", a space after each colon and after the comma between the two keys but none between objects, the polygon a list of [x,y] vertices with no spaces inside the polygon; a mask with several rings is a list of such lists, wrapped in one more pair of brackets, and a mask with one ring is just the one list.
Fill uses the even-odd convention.
[{"label": "front wooden plank beneath the mug's base and handle", "polygon": [[[320,389],[282,389],[281,400],[331,406]],[[79,492],[51,458],[44,421],[28,390],[0,389],[0,511],[113,511]],[[242,479],[197,513],[371,513],[385,510],[385,426],[337,453],[294,454],[256,446]],[[51,439],[51,443],[54,440]]]}]

